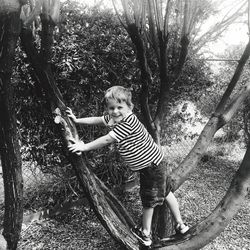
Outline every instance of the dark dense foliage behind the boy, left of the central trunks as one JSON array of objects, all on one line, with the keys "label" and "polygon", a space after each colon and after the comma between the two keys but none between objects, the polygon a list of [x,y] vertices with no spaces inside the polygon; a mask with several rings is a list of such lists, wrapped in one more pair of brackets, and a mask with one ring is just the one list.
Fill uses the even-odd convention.
[{"label": "dark dense foliage behind the boy, left of the central trunks", "polygon": [[[57,174],[71,176],[57,128],[44,109],[43,93],[37,91],[32,70],[20,47],[18,52],[15,81],[24,160],[33,159],[44,172],[55,174],[59,167],[61,171]],[[84,10],[80,3],[65,2],[60,29],[55,32],[53,71],[66,103],[77,116],[102,115],[104,91],[114,84],[130,87],[136,82],[135,64],[130,41],[114,14]],[[90,141],[103,131],[82,127],[79,133],[84,141]],[[112,165],[103,161],[107,152],[109,158],[106,159],[114,159]],[[124,172],[124,166],[117,168],[120,163],[114,150],[90,152],[89,158],[93,159],[92,165],[102,179],[110,184],[123,181],[119,172]],[[105,166],[100,167],[103,164]]]}]

